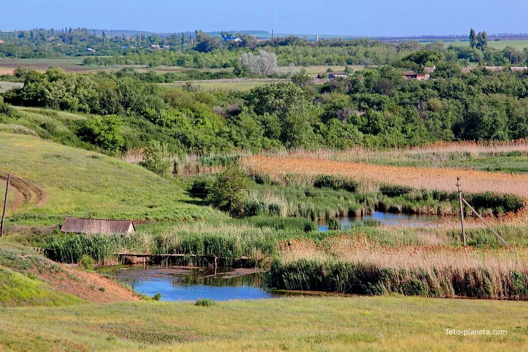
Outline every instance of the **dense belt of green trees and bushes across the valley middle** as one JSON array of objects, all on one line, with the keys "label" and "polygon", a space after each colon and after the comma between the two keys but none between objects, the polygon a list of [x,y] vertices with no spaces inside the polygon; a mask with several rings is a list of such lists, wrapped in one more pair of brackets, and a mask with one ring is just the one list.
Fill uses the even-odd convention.
[{"label": "dense belt of green trees and bushes across the valley middle", "polygon": [[[436,66],[432,80],[404,80],[409,68]],[[302,72],[291,82],[249,92],[161,88],[157,73],[130,69],[98,74],[17,69],[24,82],[2,94],[0,120],[23,123],[8,104],[90,113],[70,121],[73,137],[44,126],[47,137],[74,138],[118,153],[157,140],[171,152],[274,148],[410,146],[453,140],[528,138],[528,72],[462,73],[442,51],[402,54],[391,65],[315,84]],[[17,122],[17,119],[21,119]]]}]

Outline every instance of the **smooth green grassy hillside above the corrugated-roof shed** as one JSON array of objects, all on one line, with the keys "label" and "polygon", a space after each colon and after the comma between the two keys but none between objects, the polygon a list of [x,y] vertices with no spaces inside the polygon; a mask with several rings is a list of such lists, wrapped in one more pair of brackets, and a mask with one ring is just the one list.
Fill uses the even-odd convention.
[{"label": "smooth green grassy hillside above the corrugated-roof shed", "polygon": [[8,222],[56,224],[65,215],[180,220],[203,217],[183,189],[144,168],[40,138],[0,132],[0,165],[44,189],[43,204],[12,211]]}]

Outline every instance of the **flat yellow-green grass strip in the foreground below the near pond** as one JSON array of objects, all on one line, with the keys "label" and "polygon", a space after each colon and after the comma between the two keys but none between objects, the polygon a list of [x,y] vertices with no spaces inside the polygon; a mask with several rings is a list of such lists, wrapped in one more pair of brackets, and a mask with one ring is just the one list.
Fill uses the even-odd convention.
[{"label": "flat yellow-green grass strip in the foreground below the near pond", "polygon": [[[79,317],[82,317],[80,319]],[[523,350],[525,302],[319,297],[0,309],[0,348],[53,350]],[[221,324],[220,324],[221,323]],[[506,336],[448,336],[501,329]]]}]

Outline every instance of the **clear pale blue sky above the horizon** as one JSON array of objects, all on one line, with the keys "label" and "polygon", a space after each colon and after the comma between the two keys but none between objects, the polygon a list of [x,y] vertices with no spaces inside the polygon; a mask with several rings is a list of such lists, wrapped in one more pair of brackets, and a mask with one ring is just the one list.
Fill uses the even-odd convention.
[{"label": "clear pale blue sky above the horizon", "polygon": [[[528,33],[524,0],[244,2],[2,0],[0,30],[87,27],[159,33],[265,30],[275,33],[403,36]],[[22,5],[23,4],[23,5]]]}]

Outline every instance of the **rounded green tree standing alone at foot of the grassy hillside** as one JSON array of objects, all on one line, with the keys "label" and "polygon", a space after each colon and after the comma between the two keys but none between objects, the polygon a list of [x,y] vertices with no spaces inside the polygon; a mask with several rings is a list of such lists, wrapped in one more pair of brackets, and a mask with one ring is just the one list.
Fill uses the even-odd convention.
[{"label": "rounded green tree standing alone at foot of the grassy hillside", "polygon": [[245,188],[247,186],[246,174],[237,166],[229,166],[216,176],[214,183],[209,187],[208,200],[232,216],[241,216],[246,200]]}]

